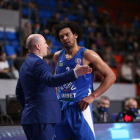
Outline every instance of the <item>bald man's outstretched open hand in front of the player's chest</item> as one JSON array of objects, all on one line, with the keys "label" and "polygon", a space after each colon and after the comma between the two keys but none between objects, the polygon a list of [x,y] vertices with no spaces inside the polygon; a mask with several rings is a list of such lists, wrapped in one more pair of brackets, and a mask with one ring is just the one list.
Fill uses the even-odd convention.
[{"label": "bald man's outstretched open hand in front of the player's chest", "polygon": [[78,62],[78,64],[74,68],[77,76],[89,74],[92,72],[92,68],[90,68],[89,66],[86,66],[86,65],[81,66],[80,63],[81,63],[81,60]]}]

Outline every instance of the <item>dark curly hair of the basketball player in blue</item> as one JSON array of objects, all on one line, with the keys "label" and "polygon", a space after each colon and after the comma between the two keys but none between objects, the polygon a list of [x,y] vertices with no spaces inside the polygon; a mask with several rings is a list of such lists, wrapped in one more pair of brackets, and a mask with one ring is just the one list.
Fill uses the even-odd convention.
[{"label": "dark curly hair of the basketball player in blue", "polygon": [[82,29],[73,21],[63,22],[63,23],[53,26],[53,32],[54,32],[56,41],[60,42],[59,31],[64,28],[70,28],[73,34],[76,33],[78,35],[77,42],[80,42],[80,40],[82,39]]}]

